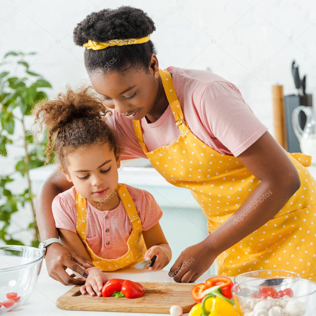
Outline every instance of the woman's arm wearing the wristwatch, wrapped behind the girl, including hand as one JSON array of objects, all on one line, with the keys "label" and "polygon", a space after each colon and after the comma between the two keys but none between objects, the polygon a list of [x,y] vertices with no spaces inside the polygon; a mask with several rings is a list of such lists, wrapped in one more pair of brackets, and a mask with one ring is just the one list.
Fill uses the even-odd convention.
[{"label": "woman's arm wearing the wristwatch, wrapped behind the girl, including hand", "polygon": [[[67,181],[64,174],[57,168],[46,179],[36,194],[36,219],[40,230],[41,240],[58,238],[58,229],[52,214],[52,201],[59,193],[70,189],[72,184]],[[70,277],[65,268],[70,268],[82,276],[86,272],[78,265],[88,268],[88,262],[58,243],[51,244],[46,249],[46,268],[50,277],[64,285],[79,285],[84,281]]]}]

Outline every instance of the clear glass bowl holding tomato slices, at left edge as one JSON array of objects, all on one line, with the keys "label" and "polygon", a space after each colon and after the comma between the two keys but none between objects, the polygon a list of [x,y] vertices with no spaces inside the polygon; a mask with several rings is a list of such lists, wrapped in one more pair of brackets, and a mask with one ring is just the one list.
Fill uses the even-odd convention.
[{"label": "clear glass bowl holding tomato slices, at left edge", "polygon": [[[40,274],[43,258],[44,252],[38,248],[0,246],[0,302],[5,302],[0,307],[0,314],[22,306],[27,301]],[[17,293],[14,303],[6,302],[6,294],[11,292]]]}]

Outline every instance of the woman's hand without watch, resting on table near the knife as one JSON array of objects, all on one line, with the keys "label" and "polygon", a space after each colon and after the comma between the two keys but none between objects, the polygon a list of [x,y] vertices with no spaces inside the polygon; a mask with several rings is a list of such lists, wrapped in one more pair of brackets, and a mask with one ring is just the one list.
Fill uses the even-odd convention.
[{"label": "woman's hand without watch, resting on table near the knife", "polygon": [[218,253],[210,248],[209,240],[203,240],[186,248],[169,271],[175,282],[195,282],[210,268]]}]

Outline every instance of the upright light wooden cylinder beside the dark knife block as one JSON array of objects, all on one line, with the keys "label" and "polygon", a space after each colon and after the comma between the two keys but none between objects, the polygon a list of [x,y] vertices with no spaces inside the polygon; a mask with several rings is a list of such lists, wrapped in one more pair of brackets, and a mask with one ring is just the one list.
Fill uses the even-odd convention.
[{"label": "upright light wooden cylinder beside the dark knife block", "polygon": [[272,85],[273,127],[275,140],[287,150],[283,86]]}]

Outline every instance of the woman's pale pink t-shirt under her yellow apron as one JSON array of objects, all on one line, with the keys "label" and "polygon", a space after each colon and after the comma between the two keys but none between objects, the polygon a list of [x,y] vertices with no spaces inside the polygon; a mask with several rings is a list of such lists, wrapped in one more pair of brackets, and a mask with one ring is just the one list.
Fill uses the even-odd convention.
[{"label": "woman's pale pink t-shirt under her yellow apron", "polygon": [[[195,136],[226,155],[240,155],[268,129],[254,115],[239,89],[224,78],[204,70],[168,67],[185,121]],[[124,147],[121,159],[145,157],[130,118],[113,111],[106,120]],[[172,143],[180,131],[170,106],[154,123],[141,120],[149,151]]]}]

